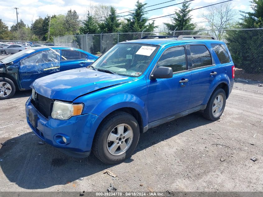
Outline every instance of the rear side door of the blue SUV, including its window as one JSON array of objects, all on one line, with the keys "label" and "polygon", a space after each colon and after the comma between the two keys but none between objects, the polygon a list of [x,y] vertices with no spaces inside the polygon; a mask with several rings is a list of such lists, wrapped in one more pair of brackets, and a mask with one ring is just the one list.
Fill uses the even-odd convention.
[{"label": "rear side door of the blue SUV, including its window", "polygon": [[205,105],[204,98],[214,78],[218,75],[209,48],[204,43],[188,45],[191,59],[191,94],[188,108]]}]

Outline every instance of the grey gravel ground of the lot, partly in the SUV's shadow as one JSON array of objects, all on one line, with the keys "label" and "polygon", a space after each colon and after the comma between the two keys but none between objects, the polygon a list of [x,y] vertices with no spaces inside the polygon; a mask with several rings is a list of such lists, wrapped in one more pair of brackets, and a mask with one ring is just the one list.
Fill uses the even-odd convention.
[{"label": "grey gravel ground of the lot, partly in the SUV's shadow", "polygon": [[[263,87],[237,81],[217,121],[199,112],[141,134],[134,154],[106,165],[65,155],[31,132],[31,91],[0,101],[0,191],[263,191]],[[214,145],[222,144],[222,145]],[[251,157],[257,157],[253,162]],[[103,171],[109,169],[116,178]],[[78,178],[83,177],[82,181]],[[142,185],[142,186],[140,186]]]}]

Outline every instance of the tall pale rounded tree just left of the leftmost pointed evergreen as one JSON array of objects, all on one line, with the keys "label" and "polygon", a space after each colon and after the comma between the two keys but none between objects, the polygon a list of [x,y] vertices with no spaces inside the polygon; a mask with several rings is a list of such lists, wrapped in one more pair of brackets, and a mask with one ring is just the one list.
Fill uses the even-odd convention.
[{"label": "tall pale rounded tree just left of the leftmost pointed evergreen", "polygon": [[67,15],[65,17],[65,28],[71,34],[77,34],[79,29],[79,16],[77,15],[76,10],[68,10]]}]

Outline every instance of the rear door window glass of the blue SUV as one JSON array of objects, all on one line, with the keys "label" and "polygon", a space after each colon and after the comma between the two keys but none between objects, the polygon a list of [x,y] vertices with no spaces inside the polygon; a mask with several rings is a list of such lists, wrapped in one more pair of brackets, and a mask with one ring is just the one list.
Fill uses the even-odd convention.
[{"label": "rear door window glass of the blue SUV", "polygon": [[211,54],[204,45],[190,45],[190,52],[192,57],[191,68],[212,65]]}]

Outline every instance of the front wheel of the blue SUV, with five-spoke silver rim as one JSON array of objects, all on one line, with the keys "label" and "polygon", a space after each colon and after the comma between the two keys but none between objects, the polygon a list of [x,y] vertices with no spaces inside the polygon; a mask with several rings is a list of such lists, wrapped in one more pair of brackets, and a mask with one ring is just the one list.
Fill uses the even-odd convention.
[{"label": "front wheel of the blue SUV, with five-spoke silver rim", "polygon": [[134,152],[139,136],[137,120],[128,113],[116,112],[99,126],[92,151],[106,164],[120,163]]}]

